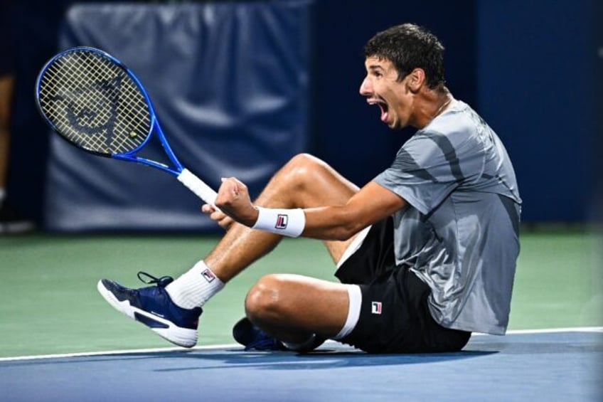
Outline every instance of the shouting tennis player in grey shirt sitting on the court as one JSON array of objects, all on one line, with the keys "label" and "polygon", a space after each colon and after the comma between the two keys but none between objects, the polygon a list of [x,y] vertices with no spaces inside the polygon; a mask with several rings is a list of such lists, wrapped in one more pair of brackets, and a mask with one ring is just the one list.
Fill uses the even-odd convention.
[{"label": "shouting tennis player in grey shirt sitting on the court", "polygon": [[516,176],[501,140],[445,86],[443,51],[410,23],[366,43],[361,95],[390,128],[417,132],[363,188],[308,154],[253,203],[245,184],[223,179],[220,210],[202,208],[226,229],[209,255],[176,280],[149,281],[156,286],[101,280],[102,295],[192,347],[210,297],[282,236],[304,236],[324,240],[341,283],[262,277],[235,326],[247,348],[307,351],[335,339],[371,353],[440,352],[462,349],[472,332],[505,334],[519,253]]}]

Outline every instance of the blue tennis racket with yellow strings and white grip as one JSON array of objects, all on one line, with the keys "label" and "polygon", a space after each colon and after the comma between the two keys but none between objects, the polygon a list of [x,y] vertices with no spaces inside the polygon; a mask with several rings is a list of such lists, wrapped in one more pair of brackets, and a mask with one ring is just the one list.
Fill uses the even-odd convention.
[{"label": "blue tennis racket with yellow strings and white grip", "polygon": [[[215,204],[215,191],[171,150],[136,75],[112,55],[83,46],[58,53],[38,75],[36,103],[50,128],[75,147],[165,171]],[[137,155],[153,134],[174,166]]]}]

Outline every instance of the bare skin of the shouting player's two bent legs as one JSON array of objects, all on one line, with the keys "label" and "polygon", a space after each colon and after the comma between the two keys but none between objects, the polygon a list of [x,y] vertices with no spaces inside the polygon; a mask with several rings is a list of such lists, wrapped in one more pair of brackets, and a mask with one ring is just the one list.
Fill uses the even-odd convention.
[{"label": "bare skin of the shouting player's two bent legs", "polygon": [[[268,208],[338,205],[356,191],[357,186],[324,162],[300,154],[274,175],[256,204]],[[280,238],[233,223],[204,260],[220,280],[228,282],[269,253]],[[351,240],[325,242],[334,261]],[[267,275],[248,293],[245,310],[252,322],[285,342],[303,342],[312,333],[332,337],[348,316],[347,285],[300,275]]]}]

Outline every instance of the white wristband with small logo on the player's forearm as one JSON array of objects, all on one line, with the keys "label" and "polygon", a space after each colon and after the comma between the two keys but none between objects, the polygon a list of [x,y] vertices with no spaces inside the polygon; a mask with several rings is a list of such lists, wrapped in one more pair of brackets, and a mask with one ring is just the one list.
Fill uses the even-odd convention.
[{"label": "white wristband with small logo on the player's forearm", "polygon": [[253,229],[297,238],[306,226],[306,214],[301,208],[281,209],[257,206],[257,221]]}]

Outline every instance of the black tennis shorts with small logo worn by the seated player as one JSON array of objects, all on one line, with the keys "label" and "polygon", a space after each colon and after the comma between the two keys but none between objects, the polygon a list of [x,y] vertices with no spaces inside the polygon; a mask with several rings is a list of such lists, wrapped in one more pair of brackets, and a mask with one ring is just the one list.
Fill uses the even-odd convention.
[{"label": "black tennis shorts with small logo worn by the seated player", "polygon": [[343,283],[360,285],[358,324],[341,342],[369,353],[459,351],[471,332],[448,329],[432,318],[429,286],[405,266],[396,266],[393,219],[375,223],[356,253],[335,273]]}]

